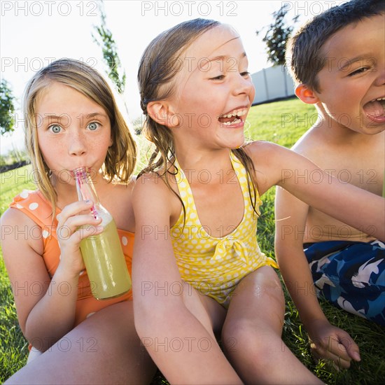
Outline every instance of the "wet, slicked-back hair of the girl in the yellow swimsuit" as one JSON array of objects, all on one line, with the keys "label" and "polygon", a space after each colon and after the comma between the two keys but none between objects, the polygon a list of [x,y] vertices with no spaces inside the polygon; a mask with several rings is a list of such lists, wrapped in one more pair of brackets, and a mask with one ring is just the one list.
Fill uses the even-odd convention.
[{"label": "wet, slicked-back hair of the girl in the yellow swimsuit", "polygon": [[[207,19],[195,19],[182,22],[175,27],[162,32],[148,45],[141,57],[138,71],[138,84],[141,94],[141,109],[145,115],[144,135],[146,139],[155,144],[155,150],[148,160],[148,166],[141,170],[139,176],[146,172],[155,172],[166,183],[168,188],[177,197],[179,195],[172,189],[167,174],[176,174],[170,171],[174,165],[174,138],[171,130],[148,115],[147,106],[149,102],[167,99],[174,92],[172,80],[181,70],[179,56],[204,32],[221,25],[220,22]],[[246,168],[251,180],[248,190],[251,197],[251,204],[255,212],[257,183],[255,180],[255,169],[253,161],[246,154],[244,148],[232,150],[242,165]],[[175,167],[175,165],[174,165]],[[138,177],[139,177],[138,176]],[[181,201],[181,197],[179,197]],[[182,202],[182,201],[181,201]],[[183,205],[183,211],[185,207]],[[186,214],[186,213],[185,213]]]}]

